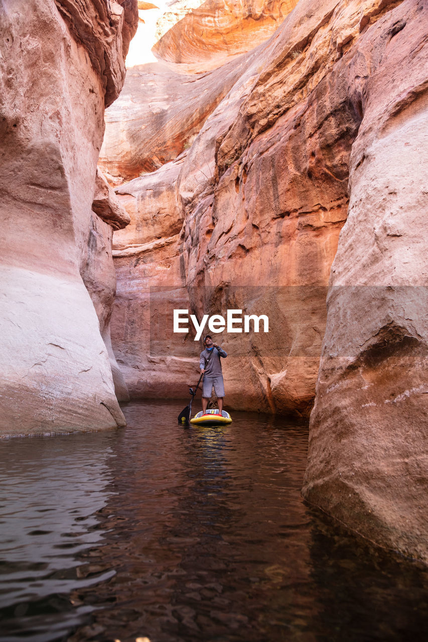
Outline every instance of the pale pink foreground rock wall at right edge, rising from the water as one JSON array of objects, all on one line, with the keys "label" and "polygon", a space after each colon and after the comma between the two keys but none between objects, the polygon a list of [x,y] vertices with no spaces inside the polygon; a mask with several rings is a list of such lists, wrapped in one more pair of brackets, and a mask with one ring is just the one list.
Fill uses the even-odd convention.
[{"label": "pale pink foreground rock wall at right edge, rising from the water", "polygon": [[305,497],[428,561],[428,15],[400,3],[365,31],[348,82],[362,123],[328,292]]}]

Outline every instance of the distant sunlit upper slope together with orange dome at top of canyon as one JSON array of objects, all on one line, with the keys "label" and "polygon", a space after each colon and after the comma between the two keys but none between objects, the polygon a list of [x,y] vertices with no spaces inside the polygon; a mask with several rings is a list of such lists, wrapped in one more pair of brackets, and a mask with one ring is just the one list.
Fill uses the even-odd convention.
[{"label": "distant sunlit upper slope together with orange dome at top of canyon", "polygon": [[185,0],[161,12],[139,3],[131,68],[105,114],[100,166],[110,180],[136,178],[183,152],[247,67],[240,54],[266,40],[296,4]]}]

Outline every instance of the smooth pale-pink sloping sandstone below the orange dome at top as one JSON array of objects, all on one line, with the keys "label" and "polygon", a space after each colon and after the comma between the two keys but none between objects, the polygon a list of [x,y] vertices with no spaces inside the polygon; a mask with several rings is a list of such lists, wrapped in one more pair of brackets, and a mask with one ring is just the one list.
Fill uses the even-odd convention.
[{"label": "smooth pale-pink sloping sandstone below the orange dome at top", "polygon": [[244,62],[206,74],[163,62],[129,69],[120,99],[105,114],[100,168],[129,180],[174,160],[235,84]]}]

